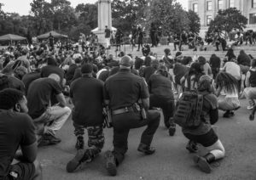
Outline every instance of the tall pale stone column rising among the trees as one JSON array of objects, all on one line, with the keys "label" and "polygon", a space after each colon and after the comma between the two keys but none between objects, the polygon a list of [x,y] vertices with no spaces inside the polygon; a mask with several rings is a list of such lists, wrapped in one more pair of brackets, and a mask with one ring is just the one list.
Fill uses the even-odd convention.
[{"label": "tall pale stone column rising among the trees", "polygon": [[105,26],[112,29],[112,12],[110,0],[98,0],[98,31],[95,32],[98,42],[106,47]]}]

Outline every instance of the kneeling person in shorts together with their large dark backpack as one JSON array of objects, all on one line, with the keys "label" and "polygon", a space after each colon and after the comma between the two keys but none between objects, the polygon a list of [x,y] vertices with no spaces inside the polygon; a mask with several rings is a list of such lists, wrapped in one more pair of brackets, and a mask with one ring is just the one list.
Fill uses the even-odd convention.
[{"label": "kneeling person in shorts together with their large dark backpack", "polygon": [[[224,146],[218,135],[212,129],[212,125],[218,121],[218,99],[212,93],[212,78],[201,76],[197,91],[183,93],[177,102],[177,110],[173,121],[182,127],[183,135],[189,139],[189,145],[197,152],[196,143],[200,143],[207,149],[206,155],[195,155],[195,165],[202,172],[210,173],[210,164],[224,158]],[[188,146],[187,146],[188,149]]]}]

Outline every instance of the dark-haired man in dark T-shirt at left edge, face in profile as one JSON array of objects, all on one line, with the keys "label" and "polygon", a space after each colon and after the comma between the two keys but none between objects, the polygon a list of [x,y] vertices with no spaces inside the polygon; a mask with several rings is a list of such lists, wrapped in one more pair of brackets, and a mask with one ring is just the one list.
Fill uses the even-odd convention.
[{"label": "dark-haired man in dark T-shirt at left edge, face in profile", "polygon": [[42,179],[35,127],[26,113],[23,93],[9,88],[0,92],[0,179]]}]

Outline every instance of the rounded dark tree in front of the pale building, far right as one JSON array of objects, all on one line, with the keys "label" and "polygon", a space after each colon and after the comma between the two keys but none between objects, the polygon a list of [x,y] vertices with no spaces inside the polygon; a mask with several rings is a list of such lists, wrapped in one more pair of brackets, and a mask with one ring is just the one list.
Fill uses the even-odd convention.
[{"label": "rounded dark tree in front of the pale building, far right", "polygon": [[214,20],[211,21],[208,32],[217,32],[229,34],[230,31],[242,31],[247,25],[247,18],[241,14],[240,10],[236,8],[227,8],[225,10],[218,10],[218,14]]}]

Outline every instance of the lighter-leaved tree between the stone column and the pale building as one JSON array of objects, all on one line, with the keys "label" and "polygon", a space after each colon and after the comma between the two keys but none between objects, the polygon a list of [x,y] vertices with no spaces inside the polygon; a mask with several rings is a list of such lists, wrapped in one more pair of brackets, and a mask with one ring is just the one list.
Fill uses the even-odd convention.
[{"label": "lighter-leaved tree between the stone column and the pale building", "polygon": [[189,31],[187,13],[176,0],[153,0],[147,22],[160,25],[164,34]]}]

